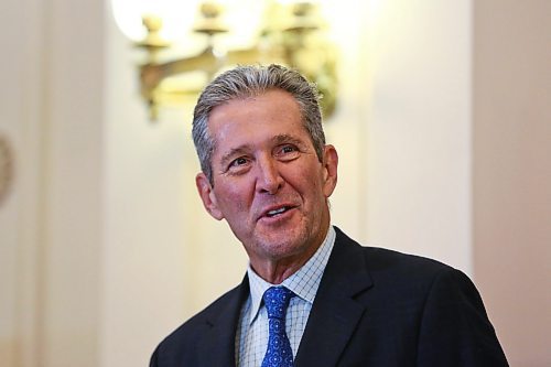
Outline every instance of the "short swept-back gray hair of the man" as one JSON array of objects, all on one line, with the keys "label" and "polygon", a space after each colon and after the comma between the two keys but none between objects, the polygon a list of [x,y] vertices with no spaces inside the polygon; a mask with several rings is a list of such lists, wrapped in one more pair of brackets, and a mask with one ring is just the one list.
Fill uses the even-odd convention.
[{"label": "short swept-back gray hair of the man", "polygon": [[193,114],[193,142],[201,169],[210,184],[214,184],[212,158],[216,148],[216,141],[208,131],[210,112],[230,100],[259,96],[271,89],[285,90],[296,100],[303,126],[312,139],[320,162],[323,161],[325,134],[316,86],[299,72],[280,65],[237,66],[220,74],[206,86]]}]

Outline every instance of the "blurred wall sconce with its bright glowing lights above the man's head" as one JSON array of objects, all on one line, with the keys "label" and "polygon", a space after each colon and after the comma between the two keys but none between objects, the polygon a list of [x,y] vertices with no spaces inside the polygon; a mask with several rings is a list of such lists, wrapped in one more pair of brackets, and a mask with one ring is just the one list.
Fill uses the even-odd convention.
[{"label": "blurred wall sconce with its bright glowing lights above the man's head", "polygon": [[[111,6],[119,28],[130,39],[139,39],[136,45],[145,52],[147,60],[139,65],[140,89],[151,120],[159,118],[162,106],[183,105],[196,98],[224,69],[258,63],[283,64],[300,71],[317,84],[324,115],[333,114],[337,88],[336,47],[324,32],[326,24],[318,4],[289,0],[240,0],[233,1],[231,7],[229,1],[147,2],[111,0]],[[182,6],[191,8],[171,8]],[[139,22],[138,17],[145,29],[141,36],[131,30]],[[174,25],[191,29],[187,31],[191,36],[182,40],[182,44],[169,41],[171,36],[163,34],[163,21],[171,18],[173,22],[166,24],[166,30],[177,32]],[[128,26],[128,22],[133,24]],[[255,24],[255,29],[249,26],[245,30],[248,34],[244,34],[244,25],[250,24]],[[185,35],[185,31],[180,33]],[[171,57],[177,47],[183,48],[185,56]]]}]

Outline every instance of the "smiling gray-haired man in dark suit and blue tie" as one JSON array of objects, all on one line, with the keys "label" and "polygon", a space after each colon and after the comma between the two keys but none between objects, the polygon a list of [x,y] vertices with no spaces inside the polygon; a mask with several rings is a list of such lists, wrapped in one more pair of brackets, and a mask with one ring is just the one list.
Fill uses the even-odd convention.
[{"label": "smiling gray-haired man in dark suit and blue tie", "polygon": [[465,274],[361,247],[331,225],[338,156],[300,74],[226,72],[201,95],[193,138],[204,206],[250,262],[151,366],[507,366]]}]

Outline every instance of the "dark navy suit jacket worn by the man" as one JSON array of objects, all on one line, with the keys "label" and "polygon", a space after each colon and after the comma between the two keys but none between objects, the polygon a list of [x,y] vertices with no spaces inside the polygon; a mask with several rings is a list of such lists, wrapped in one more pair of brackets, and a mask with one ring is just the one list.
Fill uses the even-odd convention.
[{"label": "dark navy suit jacket worn by the man", "polygon": [[[151,367],[236,366],[247,277],[169,335]],[[361,247],[338,228],[295,366],[507,366],[480,295],[441,262]]]}]

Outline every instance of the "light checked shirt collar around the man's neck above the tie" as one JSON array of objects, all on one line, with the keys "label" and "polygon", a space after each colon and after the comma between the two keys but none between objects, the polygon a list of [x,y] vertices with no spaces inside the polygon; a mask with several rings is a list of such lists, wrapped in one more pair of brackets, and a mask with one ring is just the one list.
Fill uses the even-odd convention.
[{"label": "light checked shirt collar around the man's neck above the tie", "polygon": [[[302,300],[313,303],[317,288],[322,280],[323,271],[329,259],[333,245],[335,244],[335,229],[329,226],[327,230],[327,236],[322,242],[322,246],[315,251],[315,253],[310,258],[310,260],[300,268],[294,274],[285,279],[281,285],[287,287],[294,294],[296,294]],[[247,268],[247,274],[249,277],[249,288],[250,288],[250,320],[252,323],[260,311],[262,304],[262,295],[266,290],[276,284],[271,284],[260,278],[255,270],[252,270],[250,263]]]}]

